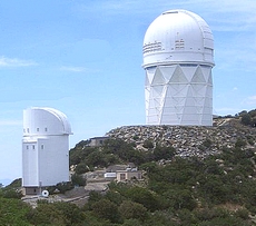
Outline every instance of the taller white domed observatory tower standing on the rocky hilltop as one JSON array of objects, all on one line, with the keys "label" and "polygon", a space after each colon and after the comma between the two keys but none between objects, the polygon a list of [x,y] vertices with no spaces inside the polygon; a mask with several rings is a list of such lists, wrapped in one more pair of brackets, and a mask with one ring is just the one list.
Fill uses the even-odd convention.
[{"label": "taller white domed observatory tower standing on the rocky hilltop", "polygon": [[144,38],[147,125],[213,126],[214,39],[186,10],[161,13]]}]

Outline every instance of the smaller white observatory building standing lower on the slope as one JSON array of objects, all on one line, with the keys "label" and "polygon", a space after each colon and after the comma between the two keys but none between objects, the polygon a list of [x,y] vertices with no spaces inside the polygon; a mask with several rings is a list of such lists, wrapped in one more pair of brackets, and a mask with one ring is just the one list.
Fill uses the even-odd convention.
[{"label": "smaller white observatory building standing lower on the slope", "polygon": [[40,194],[45,187],[69,181],[69,135],[67,117],[52,108],[23,110],[22,187]]}]

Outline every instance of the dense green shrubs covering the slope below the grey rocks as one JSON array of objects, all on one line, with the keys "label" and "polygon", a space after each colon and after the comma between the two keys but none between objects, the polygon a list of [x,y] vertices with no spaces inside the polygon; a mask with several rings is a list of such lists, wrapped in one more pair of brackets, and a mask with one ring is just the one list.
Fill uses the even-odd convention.
[{"label": "dense green shrubs covering the slope below the grey rocks", "polygon": [[[250,145],[254,143],[250,139]],[[0,225],[256,224],[256,155],[247,146],[248,140],[238,138],[234,148],[226,147],[206,159],[177,157],[175,148],[154,147],[151,140],[144,144],[148,151],[139,151],[120,139],[106,140],[97,148],[87,144],[81,141],[70,150],[70,166],[76,166],[76,175],[132,161],[144,171],[144,180],[112,181],[105,194],[91,191],[81,208],[70,203],[39,202],[35,209],[19,199],[17,180],[0,189]],[[203,146],[210,148],[210,139]]]}]

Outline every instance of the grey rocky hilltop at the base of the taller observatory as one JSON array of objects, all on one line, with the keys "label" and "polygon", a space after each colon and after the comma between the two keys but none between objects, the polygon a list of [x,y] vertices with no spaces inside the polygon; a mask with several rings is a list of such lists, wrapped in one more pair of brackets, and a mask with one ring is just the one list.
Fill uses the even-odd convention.
[{"label": "grey rocky hilltop at the base of the taller observatory", "polygon": [[206,157],[233,148],[238,141],[245,147],[255,148],[256,128],[243,126],[239,119],[218,118],[213,127],[198,126],[124,126],[107,132],[112,138],[135,144],[137,149],[148,150],[152,146],[173,146],[178,156]]}]

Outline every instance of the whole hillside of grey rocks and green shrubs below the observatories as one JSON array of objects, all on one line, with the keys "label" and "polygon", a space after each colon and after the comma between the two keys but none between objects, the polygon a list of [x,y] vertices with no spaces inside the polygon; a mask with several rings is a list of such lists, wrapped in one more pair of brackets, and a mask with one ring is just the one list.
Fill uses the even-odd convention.
[{"label": "whole hillside of grey rocks and green shrubs below the observatories", "polygon": [[111,181],[80,207],[49,198],[31,208],[2,189],[0,225],[256,225],[256,128],[242,117],[214,127],[128,126],[108,136],[102,146],[82,140],[70,150],[75,175],[135,163],[141,180]]}]

